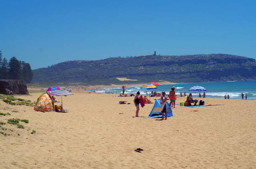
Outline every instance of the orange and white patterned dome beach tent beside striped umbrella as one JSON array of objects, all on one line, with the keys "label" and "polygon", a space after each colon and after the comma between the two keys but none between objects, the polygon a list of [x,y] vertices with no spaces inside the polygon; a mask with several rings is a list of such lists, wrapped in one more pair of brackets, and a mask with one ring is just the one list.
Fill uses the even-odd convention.
[{"label": "orange and white patterned dome beach tent beside striped umbrella", "polygon": [[52,96],[47,93],[41,94],[36,101],[34,110],[37,112],[55,112]]}]

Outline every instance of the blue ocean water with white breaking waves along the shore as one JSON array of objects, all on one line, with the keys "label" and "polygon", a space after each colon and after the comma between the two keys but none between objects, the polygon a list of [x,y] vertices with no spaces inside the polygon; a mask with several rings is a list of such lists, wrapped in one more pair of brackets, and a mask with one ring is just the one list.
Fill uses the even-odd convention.
[{"label": "blue ocean water with white breaking waves along the shore", "polygon": [[[203,94],[206,93],[207,98],[223,98],[225,94],[230,95],[230,99],[241,99],[241,94],[247,94],[247,100],[256,100],[256,81],[229,81],[229,82],[211,82],[211,83],[184,83],[184,84],[170,84],[170,85],[159,85],[156,89],[152,89],[156,92],[162,92],[165,91],[166,93],[169,93],[172,86],[175,86],[175,91],[178,96],[180,96],[180,92],[184,94],[186,91],[186,94],[192,93],[194,97],[198,96],[199,92]],[[203,86],[206,88],[206,91],[189,91],[190,87],[193,86]],[[147,89],[141,89],[141,86],[132,86],[132,87],[126,87],[125,93],[127,94],[136,94],[138,90],[140,91],[140,94],[144,95],[146,91],[148,94],[152,90]],[[106,89],[100,89],[97,92],[105,93],[110,91],[110,93],[114,94],[122,94],[122,87],[118,88],[106,88]]]}]

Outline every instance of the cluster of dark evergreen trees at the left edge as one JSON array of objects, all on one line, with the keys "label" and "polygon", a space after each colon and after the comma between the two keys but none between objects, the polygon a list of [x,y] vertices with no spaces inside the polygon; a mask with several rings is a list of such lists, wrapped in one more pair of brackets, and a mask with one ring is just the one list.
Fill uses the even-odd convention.
[{"label": "cluster of dark evergreen trees at the left edge", "polygon": [[31,83],[33,72],[29,63],[18,61],[13,56],[9,61],[4,57],[0,50],[0,79],[24,80],[26,83]]}]

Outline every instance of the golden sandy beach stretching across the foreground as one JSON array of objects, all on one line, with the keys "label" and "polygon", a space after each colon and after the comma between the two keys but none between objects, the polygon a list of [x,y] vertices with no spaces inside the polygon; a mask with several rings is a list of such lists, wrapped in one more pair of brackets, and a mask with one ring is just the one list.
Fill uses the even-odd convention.
[{"label": "golden sandy beach stretching across the foreground", "polygon": [[[34,102],[40,94],[15,97]],[[11,114],[0,115],[0,122],[6,122],[1,126],[10,134],[0,134],[1,169],[256,168],[255,100],[202,98],[205,105],[222,105],[176,105],[173,117],[159,121],[143,118],[154,104],[140,107],[138,118],[134,104],[119,104],[133,103],[134,97],[73,94],[62,97],[68,113],[35,112],[32,106],[0,100],[0,112]],[[176,104],[185,100],[177,98]],[[10,118],[29,123],[20,122],[20,129],[7,124]],[[137,148],[144,151],[134,151]]]}]

